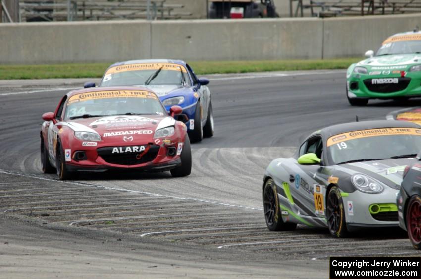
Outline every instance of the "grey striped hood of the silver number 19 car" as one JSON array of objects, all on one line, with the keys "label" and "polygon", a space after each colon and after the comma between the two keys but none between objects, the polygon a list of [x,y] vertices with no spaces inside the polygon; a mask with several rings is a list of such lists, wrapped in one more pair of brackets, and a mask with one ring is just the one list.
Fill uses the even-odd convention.
[{"label": "grey striped hood of the silver number 19 car", "polygon": [[336,170],[349,174],[362,173],[380,182],[399,189],[402,182],[402,174],[407,165],[414,162],[414,158],[373,160],[348,164],[339,164]]}]

